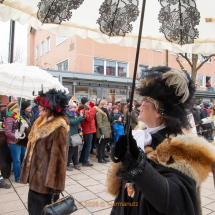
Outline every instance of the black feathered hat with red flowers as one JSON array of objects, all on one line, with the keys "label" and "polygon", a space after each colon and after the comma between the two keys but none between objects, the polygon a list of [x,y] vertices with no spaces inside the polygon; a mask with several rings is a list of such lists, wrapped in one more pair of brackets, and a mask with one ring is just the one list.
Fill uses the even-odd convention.
[{"label": "black feathered hat with red flowers", "polygon": [[66,107],[69,103],[69,97],[66,92],[61,90],[50,89],[46,93],[40,91],[38,96],[35,98],[34,102],[44,108],[49,109],[55,114],[64,114]]}]

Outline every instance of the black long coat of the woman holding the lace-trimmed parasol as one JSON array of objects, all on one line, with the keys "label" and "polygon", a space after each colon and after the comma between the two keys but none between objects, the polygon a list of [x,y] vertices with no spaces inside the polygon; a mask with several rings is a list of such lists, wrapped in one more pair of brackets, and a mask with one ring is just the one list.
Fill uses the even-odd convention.
[{"label": "black long coat of the woman holding the lace-trimmed parasol", "polygon": [[[166,128],[153,134],[151,147],[156,149],[166,138],[166,134]],[[156,170],[156,174],[154,170]],[[126,189],[128,180],[122,180],[111,215],[200,214],[196,182],[175,169],[167,168],[147,159],[145,169],[133,182],[135,193],[132,198],[128,196]],[[126,204],[132,206],[126,206]]]}]

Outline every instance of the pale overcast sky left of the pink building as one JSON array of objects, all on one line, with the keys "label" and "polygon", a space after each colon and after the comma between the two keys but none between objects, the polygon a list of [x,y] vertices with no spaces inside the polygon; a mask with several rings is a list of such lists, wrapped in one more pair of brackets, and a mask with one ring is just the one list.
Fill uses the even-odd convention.
[{"label": "pale overcast sky left of the pink building", "polygon": [[[27,24],[21,25],[18,22],[15,22],[15,45],[16,47],[21,46],[24,50],[23,59],[26,63],[27,56]],[[9,47],[9,35],[10,35],[10,21],[2,22],[0,21],[0,55],[8,59],[8,47]]]}]

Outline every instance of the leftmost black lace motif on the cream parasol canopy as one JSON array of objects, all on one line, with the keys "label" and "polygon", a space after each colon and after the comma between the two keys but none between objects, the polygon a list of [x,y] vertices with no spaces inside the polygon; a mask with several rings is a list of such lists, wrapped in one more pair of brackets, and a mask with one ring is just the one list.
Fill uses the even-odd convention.
[{"label": "leftmost black lace motif on the cream parasol canopy", "polygon": [[[0,0],[1,1],[1,0]],[[72,10],[80,7],[84,0],[41,0],[38,6],[37,18],[42,23],[61,24],[69,21]]]}]

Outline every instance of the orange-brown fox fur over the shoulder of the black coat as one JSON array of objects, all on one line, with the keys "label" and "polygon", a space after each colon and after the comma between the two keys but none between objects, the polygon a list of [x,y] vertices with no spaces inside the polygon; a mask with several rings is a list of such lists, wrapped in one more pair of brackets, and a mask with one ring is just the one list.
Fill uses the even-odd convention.
[{"label": "orange-brown fox fur over the shoulder of the black coat", "polygon": [[186,134],[165,139],[147,157],[191,177],[198,187],[213,170],[215,149],[205,138]]}]

